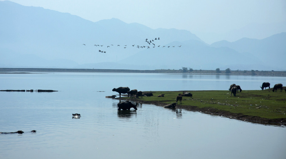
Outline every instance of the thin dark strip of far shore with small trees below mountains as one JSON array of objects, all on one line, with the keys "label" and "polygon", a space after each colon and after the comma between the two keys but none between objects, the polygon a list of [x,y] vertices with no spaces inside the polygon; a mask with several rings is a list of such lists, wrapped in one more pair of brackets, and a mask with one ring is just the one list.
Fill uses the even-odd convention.
[{"label": "thin dark strip of far shore with small trees below mountains", "polygon": [[258,70],[183,70],[183,69],[155,69],[155,70],[132,70],[132,69],[45,69],[45,68],[0,68],[0,73],[32,73],[32,72],[106,72],[106,73],[169,73],[169,74],[217,74],[217,75],[253,75],[253,76],[286,76],[286,71],[258,71]]}]

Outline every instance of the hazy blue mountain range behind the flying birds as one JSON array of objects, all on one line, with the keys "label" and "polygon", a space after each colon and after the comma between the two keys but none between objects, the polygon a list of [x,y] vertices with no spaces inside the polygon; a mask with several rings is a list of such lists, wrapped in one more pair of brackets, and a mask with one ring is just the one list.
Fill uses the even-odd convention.
[{"label": "hazy blue mountain range behind the flying birds", "polygon": [[69,13],[10,1],[0,1],[0,23],[0,67],[286,68],[286,33],[261,40],[242,38],[206,44],[187,30],[151,29],[116,18],[91,22]]}]

